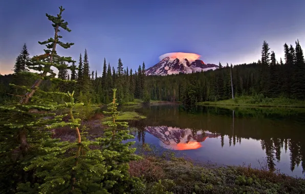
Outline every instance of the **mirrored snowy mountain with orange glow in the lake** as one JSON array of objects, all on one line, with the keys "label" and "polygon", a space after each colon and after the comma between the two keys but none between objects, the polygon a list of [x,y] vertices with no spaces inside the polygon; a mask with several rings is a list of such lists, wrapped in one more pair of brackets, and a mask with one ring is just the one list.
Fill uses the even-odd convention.
[{"label": "mirrored snowy mountain with orange glow in the lake", "polygon": [[160,146],[172,150],[198,149],[202,147],[200,142],[203,142],[206,138],[220,136],[202,130],[194,132],[191,129],[167,126],[145,127],[145,131],[160,139]]}]

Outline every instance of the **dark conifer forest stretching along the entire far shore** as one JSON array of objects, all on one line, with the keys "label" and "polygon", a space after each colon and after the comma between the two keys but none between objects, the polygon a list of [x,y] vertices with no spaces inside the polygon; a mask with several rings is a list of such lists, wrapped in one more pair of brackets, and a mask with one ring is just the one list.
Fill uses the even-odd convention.
[{"label": "dark conifer forest stretching along the entire far shore", "polygon": [[[65,84],[51,84],[45,81],[40,87],[49,91],[76,91],[79,102],[110,103],[112,88],[118,88],[118,103],[142,99],[182,102],[194,104],[204,101],[220,101],[233,96],[254,95],[256,98],[277,98],[283,96],[289,99],[305,99],[305,64],[301,45],[297,40],[295,47],[284,44],[285,59],[276,61],[275,53],[269,52],[269,44],[264,41],[262,46],[262,59],[250,64],[229,65],[192,74],[179,74],[169,76],[146,76],[145,64],[136,71],[124,68],[121,59],[117,67],[106,63],[104,59],[102,76],[97,77],[97,71],[90,70],[89,57],[85,50],[83,58],[80,54],[78,65],[72,64],[70,71],[59,67],[58,78],[62,80],[75,80]],[[17,76],[20,70],[26,71],[27,57],[26,45],[16,59],[14,75],[0,76],[0,103],[13,98],[15,89],[9,83],[32,83]],[[232,71],[232,81],[231,81]],[[71,74],[69,74],[71,72]],[[232,84],[231,84],[232,83]],[[12,91],[13,90],[13,91]],[[16,91],[15,91],[16,93]],[[254,100],[256,101],[256,100]],[[255,103],[255,102],[253,102]]]}]

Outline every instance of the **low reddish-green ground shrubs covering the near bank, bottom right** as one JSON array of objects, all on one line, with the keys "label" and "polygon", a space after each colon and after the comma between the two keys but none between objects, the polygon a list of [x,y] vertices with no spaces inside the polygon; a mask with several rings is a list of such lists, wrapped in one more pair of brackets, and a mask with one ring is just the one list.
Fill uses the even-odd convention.
[{"label": "low reddish-green ground shrubs covering the near bank, bottom right", "polygon": [[[140,149],[150,150],[147,147]],[[264,166],[195,164],[172,154],[142,158],[129,163],[130,175],[144,183],[140,193],[305,193],[304,179]]]}]

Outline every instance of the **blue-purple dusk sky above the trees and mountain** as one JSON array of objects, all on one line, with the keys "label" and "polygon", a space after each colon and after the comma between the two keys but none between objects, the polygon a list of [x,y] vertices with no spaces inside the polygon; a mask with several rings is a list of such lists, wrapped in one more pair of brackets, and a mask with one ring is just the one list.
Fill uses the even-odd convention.
[{"label": "blue-purple dusk sky above the trees and mountain", "polygon": [[38,41],[54,37],[46,13],[63,18],[71,33],[61,31],[63,42],[74,42],[61,56],[78,60],[86,48],[91,70],[101,75],[103,60],[134,70],[159,62],[166,53],[201,55],[205,63],[233,65],[257,61],[266,40],[277,60],[284,58],[285,42],[305,45],[303,0],[10,0],[0,6],[0,73],[12,73],[15,59],[26,43],[31,56],[43,54]]}]

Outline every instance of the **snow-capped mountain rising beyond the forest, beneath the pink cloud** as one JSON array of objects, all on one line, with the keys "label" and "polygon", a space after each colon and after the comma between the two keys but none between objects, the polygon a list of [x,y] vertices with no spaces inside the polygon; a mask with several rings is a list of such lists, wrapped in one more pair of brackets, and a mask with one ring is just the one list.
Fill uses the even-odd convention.
[{"label": "snow-capped mountain rising beyond the forest, beneath the pink cloud", "polygon": [[187,59],[179,57],[165,57],[156,65],[146,69],[146,75],[171,75],[189,74],[196,71],[206,71],[210,69],[216,69],[218,66],[215,64],[205,64],[199,59]]}]

